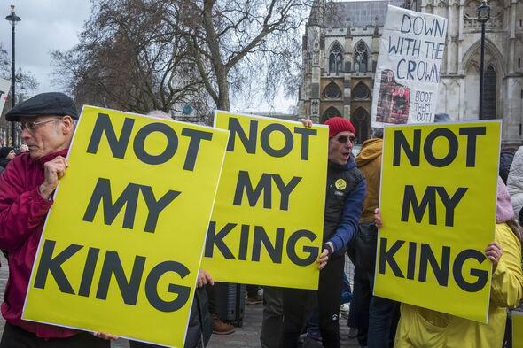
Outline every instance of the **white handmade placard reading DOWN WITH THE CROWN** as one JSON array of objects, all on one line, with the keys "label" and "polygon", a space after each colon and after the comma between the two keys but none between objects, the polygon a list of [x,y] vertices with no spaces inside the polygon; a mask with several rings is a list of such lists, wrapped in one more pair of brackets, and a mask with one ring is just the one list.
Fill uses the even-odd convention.
[{"label": "white handmade placard reading DOWN WITH THE CROWN", "polygon": [[372,127],[433,122],[446,37],[447,19],[388,6],[379,39]]}]

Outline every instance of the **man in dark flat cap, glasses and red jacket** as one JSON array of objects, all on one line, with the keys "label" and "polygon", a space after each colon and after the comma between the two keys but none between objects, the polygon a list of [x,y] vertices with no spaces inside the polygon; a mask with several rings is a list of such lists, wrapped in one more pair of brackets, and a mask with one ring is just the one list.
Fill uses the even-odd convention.
[{"label": "man in dark flat cap, glasses and red jacket", "polygon": [[16,105],[5,118],[20,122],[21,137],[29,151],[12,159],[0,176],[0,249],[7,252],[9,263],[2,303],[6,323],[0,348],[109,347],[107,339],[115,336],[21,319],[43,223],[53,203],[52,193],[66,174],[66,154],[78,120],[76,106],[62,93],[42,93]]}]

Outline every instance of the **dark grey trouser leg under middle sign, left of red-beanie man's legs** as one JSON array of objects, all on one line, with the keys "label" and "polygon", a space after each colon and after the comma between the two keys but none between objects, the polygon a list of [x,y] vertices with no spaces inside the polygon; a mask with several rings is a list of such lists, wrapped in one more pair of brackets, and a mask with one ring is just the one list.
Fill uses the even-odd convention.
[{"label": "dark grey trouser leg under middle sign, left of red-beanie man's legs", "polygon": [[281,288],[263,287],[263,321],[260,332],[262,348],[277,348],[284,321],[284,298]]}]

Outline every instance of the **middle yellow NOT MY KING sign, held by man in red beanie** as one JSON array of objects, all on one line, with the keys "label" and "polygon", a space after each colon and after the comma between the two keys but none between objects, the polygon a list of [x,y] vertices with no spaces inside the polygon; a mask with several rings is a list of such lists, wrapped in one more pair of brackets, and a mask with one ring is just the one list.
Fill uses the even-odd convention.
[{"label": "middle yellow NOT MY KING sign, held by man in red beanie", "polygon": [[326,126],[215,112],[230,138],[203,267],[219,282],[317,289]]}]

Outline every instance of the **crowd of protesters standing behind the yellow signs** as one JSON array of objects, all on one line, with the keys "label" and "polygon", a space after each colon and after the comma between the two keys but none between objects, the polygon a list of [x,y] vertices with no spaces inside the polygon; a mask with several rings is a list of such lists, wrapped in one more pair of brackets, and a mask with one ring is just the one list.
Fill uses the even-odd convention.
[{"label": "crowd of protesters standing behind the yellow signs", "polygon": [[[158,112],[154,115],[158,117]],[[0,166],[4,167],[0,174],[0,250],[10,272],[1,306],[6,323],[0,348],[109,347],[110,340],[117,338],[110,333],[90,334],[21,319],[43,223],[53,204],[53,192],[69,166],[66,154],[78,120],[76,106],[64,94],[43,93],[15,106],[6,119],[20,122],[28,151],[17,156],[12,148],[0,149]],[[446,120],[445,115],[436,119]],[[312,126],[310,120],[302,123]],[[362,347],[501,348],[510,344],[510,335],[505,333],[510,327],[507,313],[523,298],[519,227],[523,148],[501,156],[496,240],[485,249],[493,265],[489,320],[481,324],[372,295],[377,233],[386,224],[377,210],[383,131],[374,129],[372,138],[354,156],[356,134],[350,121],[332,117],[325,124],[329,127],[328,169],[318,290],[265,286],[260,298],[257,286],[247,288],[248,303],[263,301],[262,347],[339,348],[340,309],[347,312],[349,301],[347,325]],[[344,271],[346,254],[355,265],[352,291]],[[187,348],[204,347],[213,332],[234,331],[216,313],[220,298],[212,275],[200,269],[197,285]],[[131,341],[130,346],[154,345]]]}]

